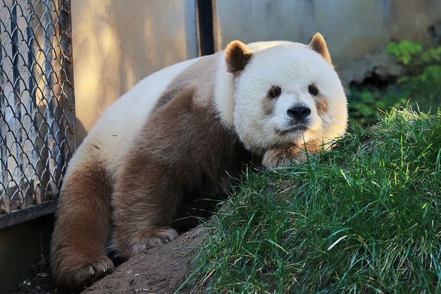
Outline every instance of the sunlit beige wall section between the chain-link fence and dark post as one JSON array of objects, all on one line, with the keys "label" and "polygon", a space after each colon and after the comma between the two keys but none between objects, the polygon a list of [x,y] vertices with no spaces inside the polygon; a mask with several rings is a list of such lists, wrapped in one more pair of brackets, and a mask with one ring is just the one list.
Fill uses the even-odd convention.
[{"label": "sunlit beige wall section between the chain-link fence and dark post", "polygon": [[77,144],[148,74],[197,57],[196,0],[72,1]]}]

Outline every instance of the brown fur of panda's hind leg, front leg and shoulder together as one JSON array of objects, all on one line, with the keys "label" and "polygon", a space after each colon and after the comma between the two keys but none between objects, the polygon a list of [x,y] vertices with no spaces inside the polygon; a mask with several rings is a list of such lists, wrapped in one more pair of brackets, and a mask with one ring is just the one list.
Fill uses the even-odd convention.
[{"label": "brown fur of panda's hind leg, front leg and shoulder together", "polygon": [[51,247],[57,284],[86,286],[114,269],[105,252],[111,219],[110,249],[123,257],[196,226],[197,217],[207,217],[215,206],[204,199],[225,196],[229,176],[251,160],[215,110],[217,56],[201,59],[172,81],[114,175],[113,187],[96,160],[67,174]]}]

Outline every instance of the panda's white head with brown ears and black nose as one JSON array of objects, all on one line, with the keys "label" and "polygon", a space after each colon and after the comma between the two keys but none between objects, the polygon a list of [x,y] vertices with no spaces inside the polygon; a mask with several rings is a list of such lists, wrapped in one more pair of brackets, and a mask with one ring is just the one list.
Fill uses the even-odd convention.
[{"label": "panda's white head with brown ears and black nose", "polygon": [[347,102],[326,43],[231,42],[226,68],[234,74],[234,126],[254,151],[271,146],[326,143],[342,135]]}]

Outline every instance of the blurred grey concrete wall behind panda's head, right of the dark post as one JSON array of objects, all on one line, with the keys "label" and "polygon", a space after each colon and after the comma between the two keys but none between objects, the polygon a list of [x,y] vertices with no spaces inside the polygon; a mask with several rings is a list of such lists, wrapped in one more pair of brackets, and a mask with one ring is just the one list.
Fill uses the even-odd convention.
[{"label": "blurred grey concrete wall behind panda's head, right of the dark post", "polygon": [[236,39],[309,43],[319,31],[346,86],[372,67],[390,65],[384,54],[390,41],[428,43],[428,27],[441,20],[440,0],[218,0],[216,6],[218,49]]}]

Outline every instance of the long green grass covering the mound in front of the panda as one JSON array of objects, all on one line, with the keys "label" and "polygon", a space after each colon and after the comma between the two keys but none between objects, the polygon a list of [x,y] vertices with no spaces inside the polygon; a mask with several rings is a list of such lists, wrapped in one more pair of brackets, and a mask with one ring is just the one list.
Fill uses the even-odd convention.
[{"label": "long green grass covering the mound in front of the panda", "polygon": [[392,110],[382,126],[351,132],[308,163],[247,174],[187,283],[211,293],[440,293],[441,112]]}]

